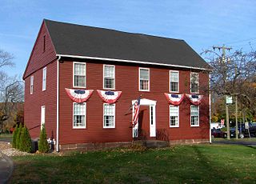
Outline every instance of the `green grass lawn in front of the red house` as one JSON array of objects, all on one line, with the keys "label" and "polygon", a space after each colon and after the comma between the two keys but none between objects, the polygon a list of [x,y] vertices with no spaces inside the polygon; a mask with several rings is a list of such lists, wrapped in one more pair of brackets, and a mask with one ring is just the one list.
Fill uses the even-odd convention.
[{"label": "green grass lawn in front of the red house", "polygon": [[255,183],[256,148],[174,146],[14,158],[11,183]]}]

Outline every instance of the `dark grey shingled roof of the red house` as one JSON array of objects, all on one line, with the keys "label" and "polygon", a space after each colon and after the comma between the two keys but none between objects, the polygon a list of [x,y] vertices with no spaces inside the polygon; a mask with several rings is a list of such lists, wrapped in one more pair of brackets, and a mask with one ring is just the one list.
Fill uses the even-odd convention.
[{"label": "dark grey shingled roof of the red house", "polygon": [[183,40],[44,21],[56,54],[210,68]]}]

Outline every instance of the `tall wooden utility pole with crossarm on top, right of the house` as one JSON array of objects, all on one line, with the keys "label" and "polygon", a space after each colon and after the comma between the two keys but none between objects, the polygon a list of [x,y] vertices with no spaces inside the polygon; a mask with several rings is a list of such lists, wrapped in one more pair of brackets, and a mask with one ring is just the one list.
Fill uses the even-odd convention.
[{"label": "tall wooden utility pole with crossarm on top, right of the house", "polygon": [[[223,46],[213,46],[214,50],[218,49],[218,50],[222,50],[222,64],[225,64],[225,52],[226,50],[231,50],[231,47],[226,47],[225,45]],[[226,71],[227,71],[227,67],[225,67],[224,69],[224,87],[226,90]],[[227,98],[227,95],[225,95],[225,98]],[[226,106],[226,130],[227,130],[227,139],[230,139],[230,118],[229,118],[229,107],[227,106],[227,103],[225,102],[225,106]]]}]

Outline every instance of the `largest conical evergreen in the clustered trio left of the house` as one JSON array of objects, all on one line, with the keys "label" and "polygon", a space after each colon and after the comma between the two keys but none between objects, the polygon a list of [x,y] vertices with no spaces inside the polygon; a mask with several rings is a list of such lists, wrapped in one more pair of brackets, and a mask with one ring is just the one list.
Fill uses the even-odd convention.
[{"label": "largest conical evergreen in the clustered trio left of the house", "polygon": [[21,138],[20,138],[20,150],[26,151],[28,153],[32,152],[32,142],[30,138],[29,130],[26,126],[22,128]]}]

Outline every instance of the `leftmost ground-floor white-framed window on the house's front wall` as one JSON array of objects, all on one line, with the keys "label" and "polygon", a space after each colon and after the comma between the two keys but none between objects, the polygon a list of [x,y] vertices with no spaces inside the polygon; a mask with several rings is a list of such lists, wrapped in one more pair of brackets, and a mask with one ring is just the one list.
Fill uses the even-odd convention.
[{"label": "leftmost ground-floor white-framed window on the house's front wall", "polygon": [[86,103],[73,103],[73,128],[86,128]]}]

